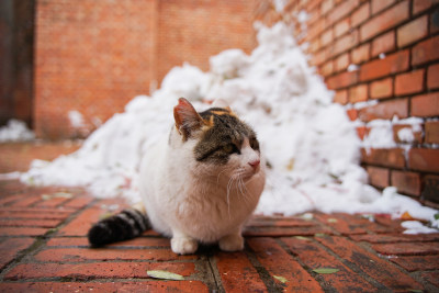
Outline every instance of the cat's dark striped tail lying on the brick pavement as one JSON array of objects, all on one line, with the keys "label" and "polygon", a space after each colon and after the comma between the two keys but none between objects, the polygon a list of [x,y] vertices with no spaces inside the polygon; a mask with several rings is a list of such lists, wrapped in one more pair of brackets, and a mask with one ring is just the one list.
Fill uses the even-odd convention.
[{"label": "cat's dark striped tail lying on the brick pavement", "polygon": [[132,239],[150,229],[145,209],[133,206],[95,223],[88,233],[92,246]]}]

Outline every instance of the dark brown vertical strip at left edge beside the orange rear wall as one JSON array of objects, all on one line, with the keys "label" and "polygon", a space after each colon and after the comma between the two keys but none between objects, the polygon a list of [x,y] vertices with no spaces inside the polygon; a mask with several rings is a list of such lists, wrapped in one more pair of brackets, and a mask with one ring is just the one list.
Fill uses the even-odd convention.
[{"label": "dark brown vertical strip at left edge beside the orange rear wall", "polygon": [[0,125],[32,126],[35,1],[0,1]]}]

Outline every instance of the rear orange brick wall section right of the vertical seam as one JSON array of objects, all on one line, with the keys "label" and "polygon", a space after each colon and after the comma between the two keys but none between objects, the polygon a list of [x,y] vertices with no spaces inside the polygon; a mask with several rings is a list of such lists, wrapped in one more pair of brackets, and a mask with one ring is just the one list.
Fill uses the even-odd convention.
[{"label": "rear orange brick wall section right of the vertical seam", "polygon": [[255,47],[256,0],[159,1],[158,78],[189,61],[209,69],[209,57],[228,48]]}]

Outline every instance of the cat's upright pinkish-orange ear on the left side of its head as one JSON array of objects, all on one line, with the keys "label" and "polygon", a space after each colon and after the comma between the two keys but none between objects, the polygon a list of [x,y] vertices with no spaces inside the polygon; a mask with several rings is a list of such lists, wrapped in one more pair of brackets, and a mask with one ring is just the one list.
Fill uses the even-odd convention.
[{"label": "cat's upright pinkish-orange ear on the left side of its head", "polygon": [[176,120],[176,127],[184,140],[191,136],[191,133],[203,126],[203,119],[184,98],[180,98],[178,105],[173,108],[173,119]]}]

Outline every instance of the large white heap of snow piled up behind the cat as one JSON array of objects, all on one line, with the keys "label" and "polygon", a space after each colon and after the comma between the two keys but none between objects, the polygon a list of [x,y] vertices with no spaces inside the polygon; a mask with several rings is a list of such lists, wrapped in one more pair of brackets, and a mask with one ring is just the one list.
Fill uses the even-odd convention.
[{"label": "large white heap of snow piled up behind the cat", "polygon": [[270,165],[258,213],[292,215],[318,210],[326,213],[408,212],[431,219],[435,211],[399,195],[384,194],[367,184],[359,166],[360,140],[345,109],[331,103],[333,93],[306,63],[306,56],[278,23],[258,27],[259,46],[246,55],[229,49],[211,58],[211,70],[190,65],[173,68],[153,97],[137,97],[70,156],[36,161],[24,182],[86,185],[97,196],[137,194],[140,157],[172,125],[179,97],[199,111],[205,101],[224,99],[252,125]]}]

